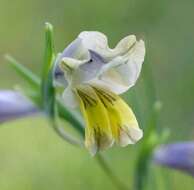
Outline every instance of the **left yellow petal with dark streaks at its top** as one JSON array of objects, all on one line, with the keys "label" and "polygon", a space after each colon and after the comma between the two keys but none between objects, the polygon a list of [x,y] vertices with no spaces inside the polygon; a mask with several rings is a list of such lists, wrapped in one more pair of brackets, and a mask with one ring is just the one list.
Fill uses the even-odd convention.
[{"label": "left yellow petal with dark streaks at its top", "polygon": [[113,144],[107,111],[93,88],[82,85],[76,90],[85,118],[85,146],[92,155]]}]

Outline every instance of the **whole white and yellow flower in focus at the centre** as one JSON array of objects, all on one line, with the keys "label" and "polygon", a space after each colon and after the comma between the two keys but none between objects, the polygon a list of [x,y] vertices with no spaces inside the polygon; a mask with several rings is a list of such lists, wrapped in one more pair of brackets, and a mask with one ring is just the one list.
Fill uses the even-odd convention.
[{"label": "whole white and yellow flower in focus at the centre", "polygon": [[134,35],[111,49],[100,32],[80,33],[58,54],[54,84],[65,88],[66,106],[80,106],[86,123],[85,146],[92,155],[114,142],[126,146],[141,139],[134,113],[118,95],[135,84],[144,55],[144,42]]}]

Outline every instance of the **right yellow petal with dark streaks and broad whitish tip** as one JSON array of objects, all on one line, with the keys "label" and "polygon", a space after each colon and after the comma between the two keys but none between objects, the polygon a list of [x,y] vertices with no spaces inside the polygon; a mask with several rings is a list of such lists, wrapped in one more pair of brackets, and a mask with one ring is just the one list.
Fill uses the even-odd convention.
[{"label": "right yellow petal with dark streaks and broad whitish tip", "polygon": [[99,87],[93,89],[107,110],[116,142],[120,146],[126,146],[141,139],[143,132],[131,108],[118,95]]}]

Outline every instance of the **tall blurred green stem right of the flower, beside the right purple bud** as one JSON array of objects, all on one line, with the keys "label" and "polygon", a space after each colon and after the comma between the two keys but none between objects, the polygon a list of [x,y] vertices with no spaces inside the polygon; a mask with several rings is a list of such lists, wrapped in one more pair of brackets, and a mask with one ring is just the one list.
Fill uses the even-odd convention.
[{"label": "tall blurred green stem right of the flower, beside the right purple bud", "polygon": [[146,131],[144,139],[140,146],[139,153],[137,155],[137,163],[134,176],[134,189],[143,190],[146,187],[148,174],[149,174],[149,164],[153,149],[156,145],[156,135],[157,135],[157,125],[158,125],[158,114],[160,111],[160,106],[155,105],[156,103],[156,89],[154,86],[154,80],[151,68],[149,64],[144,67],[144,77],[146,81],[146,94],[149,101],[149,106],[152,108],[150,116],[146,123]]}]

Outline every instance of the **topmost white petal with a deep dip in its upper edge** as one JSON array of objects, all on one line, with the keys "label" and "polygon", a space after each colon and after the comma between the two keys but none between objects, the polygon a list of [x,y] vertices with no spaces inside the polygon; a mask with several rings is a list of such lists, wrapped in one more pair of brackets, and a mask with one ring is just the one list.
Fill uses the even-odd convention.
[{"label": "topmost white petal with a deep dip in its upper edge", "polygon": [[83,45],[99,53],[106,60],[111,60],[118,55],[126,53],[129,48],[136,42],[134,35],[123,38],[114,49],[109,48],[107,37],[100,32],[82,32],[79,35]]}]

